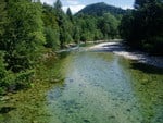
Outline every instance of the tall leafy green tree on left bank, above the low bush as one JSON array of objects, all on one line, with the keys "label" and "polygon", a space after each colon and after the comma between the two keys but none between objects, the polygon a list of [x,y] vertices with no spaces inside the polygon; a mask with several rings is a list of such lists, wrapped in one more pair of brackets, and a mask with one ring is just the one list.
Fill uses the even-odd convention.
[{"label": "tall leafy green tree on left bank, above the low bush", "polygon": [[41,5],[27,0],[9,1],[8,9],[10,23],[1,48],[7,52],[8,70],[21,72],[32,67],[45,44]]}]

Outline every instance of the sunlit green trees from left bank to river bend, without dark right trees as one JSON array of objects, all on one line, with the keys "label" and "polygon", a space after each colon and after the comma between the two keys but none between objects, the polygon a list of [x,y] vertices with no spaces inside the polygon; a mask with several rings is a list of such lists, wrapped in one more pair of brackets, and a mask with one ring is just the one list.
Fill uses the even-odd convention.
[{"label": "sunlit green trees from left bank to river bend, without dark right trees", "polygon": [[30,87],[45,48],[58,50],[72,42],[115,38],[125,11],[109,7],[105,13],[104,5],[99,5],[101,16],[74,16],[70,9],[63,12],[60,0],[53,7],[40,1],[1,0],[0,94]]}]

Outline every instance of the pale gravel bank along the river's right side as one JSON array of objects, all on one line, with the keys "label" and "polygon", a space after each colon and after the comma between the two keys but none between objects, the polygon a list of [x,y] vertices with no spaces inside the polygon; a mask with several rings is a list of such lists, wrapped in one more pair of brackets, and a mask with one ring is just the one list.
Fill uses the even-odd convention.
[{"label": "pale gravel bank along the river's right side", "polygon": [[115,53],[117,56],[122,56],[126,59],[136,60],[140,63],[146,63],[149,65],[153,65],[153,66],[163,69],[163,57],[149,56],[141,51],[130,51],[122,42],[103,42],[103,44],[99,44],[99,45],[89,47],[88,50],[113,52],[113,53]]}]

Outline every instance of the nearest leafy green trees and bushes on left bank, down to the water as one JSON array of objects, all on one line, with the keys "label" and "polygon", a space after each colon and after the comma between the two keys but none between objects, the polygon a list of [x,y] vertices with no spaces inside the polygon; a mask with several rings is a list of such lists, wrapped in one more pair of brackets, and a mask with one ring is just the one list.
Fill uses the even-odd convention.
[{"label": "nearest leafy green trees and bushes on left bank, down to the water", "polygon": [[9,0],[0,5],[4,11],[0,20],[0,52],[4,52],[0,53],[0,94],[4,94],[29,85],[45,36],[40,3]]}]

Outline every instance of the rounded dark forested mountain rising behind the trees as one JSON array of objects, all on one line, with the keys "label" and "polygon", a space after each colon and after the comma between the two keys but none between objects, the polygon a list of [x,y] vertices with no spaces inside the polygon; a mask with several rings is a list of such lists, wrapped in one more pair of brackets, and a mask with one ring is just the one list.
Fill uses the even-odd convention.
[{"label": "rounded dark forested mountain rising behind the trees", "polygon": [[102,16],[104,13],[109,13],[109,12],[113,15],[120,15],[120,14],[125,14],[127,11],[121,8],[109,5],[104,2],[99,2],[99,3],[85,7],[83,10],[76,13],[76,15],[88,14],[88,15]]}]

